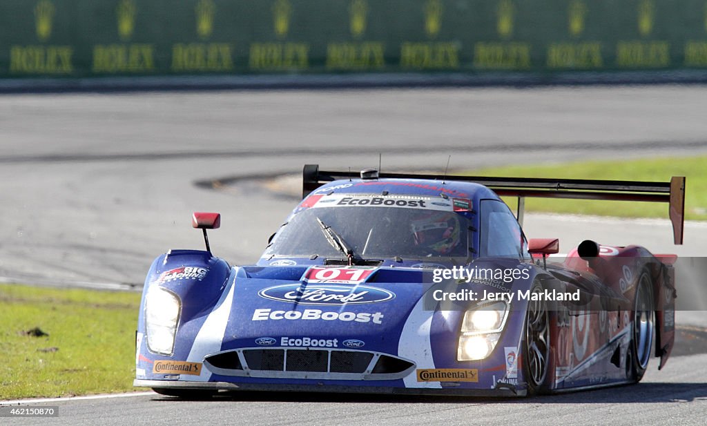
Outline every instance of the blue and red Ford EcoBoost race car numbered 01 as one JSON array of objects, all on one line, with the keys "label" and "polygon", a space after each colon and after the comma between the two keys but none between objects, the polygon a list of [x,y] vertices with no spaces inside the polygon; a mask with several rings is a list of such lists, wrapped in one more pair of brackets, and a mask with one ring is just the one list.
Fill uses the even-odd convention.
[{"label": "blue and red Ford EcoBoost race car numbered 01", "polygon": [[[674,342],[672,264],[628,245],[527,239],[526,197],[665,202],[682,244],[684,177],[511,179],[320,170],[251,266],[206,250],[147,274],[134,386],[525,396],[636,383]],[[500,196],[518,197],[513,213]]]}]

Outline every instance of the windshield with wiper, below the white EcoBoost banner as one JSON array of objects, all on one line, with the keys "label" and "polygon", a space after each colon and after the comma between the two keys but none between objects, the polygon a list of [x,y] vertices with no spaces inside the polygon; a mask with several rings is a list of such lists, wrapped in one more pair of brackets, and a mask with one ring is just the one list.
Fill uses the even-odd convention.
[{"label": "windshield with wiper, below the white EcoBoost banner", "polygon": [[468,219],[451,211],[451,207],[443,210],[415,204],[414,208],[336,204],[307,208],[293,215],[264,256],[346,259],[350,249],[357,259],[365,260],[399,258],[455,264],[468,261]]}]

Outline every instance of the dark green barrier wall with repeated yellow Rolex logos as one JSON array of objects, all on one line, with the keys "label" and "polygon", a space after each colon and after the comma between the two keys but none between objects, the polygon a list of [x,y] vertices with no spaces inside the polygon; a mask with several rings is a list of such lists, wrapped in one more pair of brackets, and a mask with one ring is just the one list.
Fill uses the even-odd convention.
[{"label": "dark green barrier wall with repeated yellow Rolex logos", "polygon": [[0,0],[0,77],[707,69],[707,0]]}]

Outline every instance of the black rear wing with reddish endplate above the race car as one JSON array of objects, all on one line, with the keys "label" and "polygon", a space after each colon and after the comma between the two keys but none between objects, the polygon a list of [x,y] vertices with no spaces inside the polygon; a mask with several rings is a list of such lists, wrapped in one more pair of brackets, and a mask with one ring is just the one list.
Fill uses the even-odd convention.
[{"label": "black rear wing with reddish endplate above the race car", "polygon": [[[302,196],[327,182],[358,179],[358,172],[320,170],[319,165],[305,165],[302,172]],[[685,177],[674,176],[670,182],[612,181],[594,179],[544,179],[534,177],[481,177],[417,173],[379,173],[381,179],[431,179],[482,184],[499,196],[518,198],[516,217],[522,225],[525,197],[547,199],[582,199],[609,201],[648,201],[668,203],[674,244],[682,244],[685,220]]]}]

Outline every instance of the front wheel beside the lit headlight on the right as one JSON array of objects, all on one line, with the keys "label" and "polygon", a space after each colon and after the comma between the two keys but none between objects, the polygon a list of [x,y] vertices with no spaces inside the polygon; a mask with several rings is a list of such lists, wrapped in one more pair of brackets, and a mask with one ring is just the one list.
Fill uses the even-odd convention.
[{"label": "front wheel beside the lit headlight on the right", "polygon": [[[532,293],[541,293],[535,284]],[[549,390],[551,365],[550,314],[544,300],[528,301],[525,314],[525,336],[522,348],[522,365],[528,386],[528,395],[542,394]]]}]

